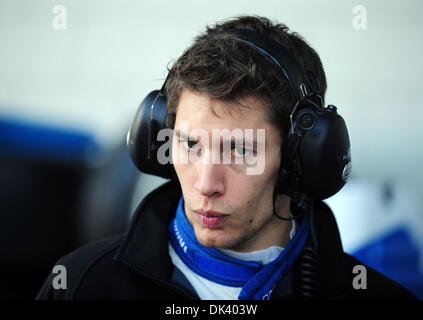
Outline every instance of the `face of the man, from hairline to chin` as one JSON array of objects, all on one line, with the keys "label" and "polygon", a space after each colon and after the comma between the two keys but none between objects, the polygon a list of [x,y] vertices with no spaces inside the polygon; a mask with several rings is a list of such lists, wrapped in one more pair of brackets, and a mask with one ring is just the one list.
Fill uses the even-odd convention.
[{"label": "face of the man, from hairline to chin", "polygon": [[[198,241],[208,247],[252,251],[281,245],[275,243],[280,242],[275,238],[281,237],[281,228],[286,229],[286,223],[275,218],[272,210],[281,138],[279,129],[266,121],[258,99],[246,97],[239,102],[248,108],[234,110],[235,102],[212,100],[205,94],[184,89],[176,114],[172,158],[185,213]],[[218,117],[212,113],[212,107]],[[218,129],[226,135],[214,139],[213,132]],[[264,143],[264,151],[261,148],[258,152],[254,144],[248,150],[232,145],[229,153],[223,152],[224,141],[231,140],[227,133],[234,129],[241,132],[253,129],[254,139]],[[258,129],[264,129],[264,139],[257,139]],[[192,134],[199,130],[207,135]],[[178,160],[182,159],[181,154],[194,155],[197,160]],[[247,174],[251,164],[235,162],[236,158],[239,161],[253,155],[264,163],[261,174]],[[224,162],[224,156],[230,156],[231,163]]]}]

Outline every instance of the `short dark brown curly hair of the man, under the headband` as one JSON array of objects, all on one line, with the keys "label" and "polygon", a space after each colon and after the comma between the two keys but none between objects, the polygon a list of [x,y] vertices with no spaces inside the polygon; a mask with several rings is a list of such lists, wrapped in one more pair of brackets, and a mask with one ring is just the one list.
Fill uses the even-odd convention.
[{"label": "short dark brown curly hair of the man, under the headband", "polygon": [[[186,88],[206,93],[211,98],[237,102],[234,108],[242,107],[238,102],[242,97],[257,97],[264,105],[269,123],[279,127],[285,137],[289,114],[296,102],[288,81],[257,49],[220,33],[227,28],[255,30],[281,43],[294,54],[303,70],[316,75],[324,97],[326,76],[322,63],[300,35],[265,17],[240,16],[207,27],[172,65],[165,85],[166,125],[174,128],[179,98]],[[212,112],[215,114],[214,110]]]}]

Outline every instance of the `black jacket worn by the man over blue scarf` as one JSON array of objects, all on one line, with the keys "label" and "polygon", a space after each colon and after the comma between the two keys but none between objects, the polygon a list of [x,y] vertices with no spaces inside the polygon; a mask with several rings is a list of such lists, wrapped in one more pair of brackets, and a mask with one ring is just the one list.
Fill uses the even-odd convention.
[{"label": "black jacket worn by the man over blue scarf", "polygon": [[[58,260],[67,271],[67,289],[54,289],[51,273],[37,299],[198,299],[168,253],[168,225],[181,197],[179,183],[168,182],[138,206],[124,235],[82,247]],[[319,299],[414,298],[398,283],[370,267],[367,289],[354,289],[353,267],[361,264],[343,252],[335,218],[323,202],[315,204]],[[299,259],[297,259],[299,260]],[[300,298],[297,261],[271,299]]]}]

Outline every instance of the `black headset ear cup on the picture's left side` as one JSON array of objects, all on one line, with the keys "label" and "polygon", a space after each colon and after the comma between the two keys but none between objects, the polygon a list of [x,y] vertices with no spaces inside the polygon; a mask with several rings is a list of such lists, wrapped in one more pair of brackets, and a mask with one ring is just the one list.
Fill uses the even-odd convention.
[{"label": "black headset ear cup on the picture's left side", "polygon": [[157,140],[160,130],[166,128],[166,111],[166,95],[160,90],[150,92],[138,107],[126,144],[132,161],[141,172],[170,179],[174,170],[171,161],[162,164],[157,155],[160,147],[168,143],[168,159],[171,157],[172,136],[169,135],[168,141]]}]

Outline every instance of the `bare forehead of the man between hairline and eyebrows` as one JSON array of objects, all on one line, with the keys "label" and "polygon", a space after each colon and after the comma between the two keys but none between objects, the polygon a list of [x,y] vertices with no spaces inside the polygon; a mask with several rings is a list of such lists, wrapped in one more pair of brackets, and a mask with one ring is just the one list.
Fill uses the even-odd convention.
[{"label": "bare forehead of the man between hairline and eyebrows", "polygon": [[188,121],[191,127],[203,129],[278,130],[267,120],[263,103],[253,96],[237,101],[212,99],[207,94],[184,89],[179,99],[175,127]]}]

